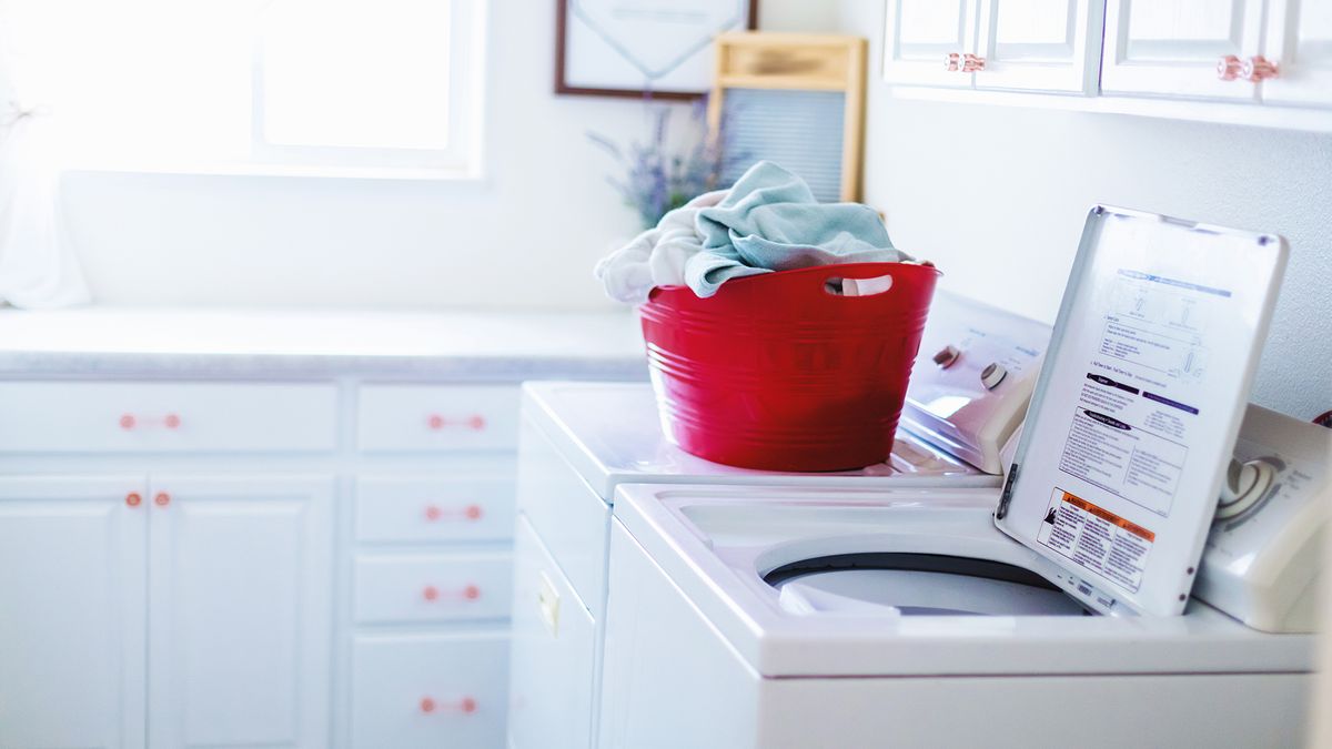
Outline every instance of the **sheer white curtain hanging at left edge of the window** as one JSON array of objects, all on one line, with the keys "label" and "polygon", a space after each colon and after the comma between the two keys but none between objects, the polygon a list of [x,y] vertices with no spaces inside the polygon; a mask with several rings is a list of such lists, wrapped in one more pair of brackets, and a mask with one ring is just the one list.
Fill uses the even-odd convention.
[{"label": "sheer white curtain hanging at left edge of the window", "polygon": [[0,303],[29,309],[91,301],[60,211],[60,149],[21,13],[0,3]]}]

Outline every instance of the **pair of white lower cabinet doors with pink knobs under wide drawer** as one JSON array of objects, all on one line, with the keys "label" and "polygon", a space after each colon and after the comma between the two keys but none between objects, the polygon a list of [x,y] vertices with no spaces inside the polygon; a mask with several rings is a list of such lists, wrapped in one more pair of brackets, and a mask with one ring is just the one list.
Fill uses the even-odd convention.
[{"label": "pair of white lower cabinet doors with pink knobs under wide drawer", "polygon": [[0,746],[328,745],[332,481],[0,478]]}]

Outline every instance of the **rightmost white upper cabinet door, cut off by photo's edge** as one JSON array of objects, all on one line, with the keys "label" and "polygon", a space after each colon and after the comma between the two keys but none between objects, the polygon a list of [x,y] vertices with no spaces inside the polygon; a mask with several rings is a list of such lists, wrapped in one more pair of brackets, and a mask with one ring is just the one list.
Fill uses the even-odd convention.
[{"label": "rightmost white upper cabinet door, cut off by photo's edge", "polygon": [[1269,0],[1263,101],[1332,107],[1332,0]]}]

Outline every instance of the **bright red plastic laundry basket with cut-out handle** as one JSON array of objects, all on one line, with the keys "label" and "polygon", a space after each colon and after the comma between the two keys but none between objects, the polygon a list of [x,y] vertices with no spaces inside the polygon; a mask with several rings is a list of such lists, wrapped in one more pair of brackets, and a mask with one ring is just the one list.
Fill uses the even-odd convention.
[{"label": "bright red plastic laundry basket with cut-out handle", "polygon": [[[839,279],[891,276],[874,296]],[[747,276],[641,309],[667,437],[726,465],[844,470],[887,460],[939,272],[856,263]]]}]

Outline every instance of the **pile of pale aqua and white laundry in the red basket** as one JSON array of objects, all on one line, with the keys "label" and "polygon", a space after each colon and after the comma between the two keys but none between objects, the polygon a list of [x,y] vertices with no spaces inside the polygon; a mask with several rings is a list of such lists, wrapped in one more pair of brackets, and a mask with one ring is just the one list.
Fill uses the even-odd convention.
[{"label": "pile of pale aqua and white laundry in the red basket", "polygon": [[[805,180],[759,161],[730,189],[703,193],[597,264],[618,301],[657,287],[710,297],[731,279],[842,263],[904,263],[883,219],[858,203],[819,203]],[[846,293],[854,293],[847,289]]]}]

